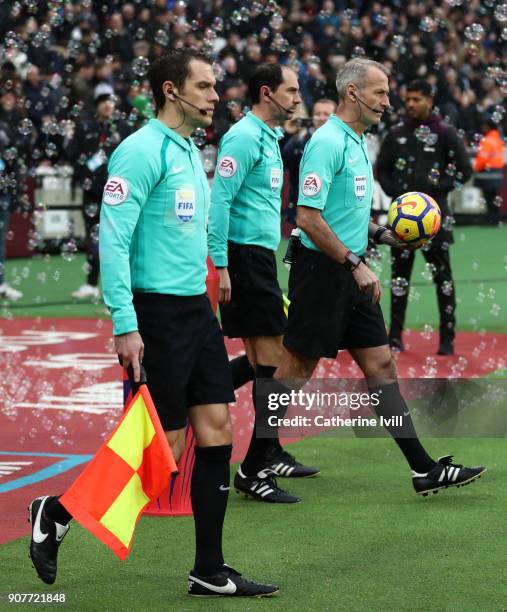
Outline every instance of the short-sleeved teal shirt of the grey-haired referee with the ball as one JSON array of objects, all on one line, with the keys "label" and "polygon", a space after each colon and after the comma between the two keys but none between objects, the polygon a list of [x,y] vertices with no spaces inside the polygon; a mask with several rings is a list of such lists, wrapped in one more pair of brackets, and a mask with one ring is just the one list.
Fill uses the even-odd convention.
[{"label": "short-sleeved teal shirt of the grey-haired referee with the ball", "polygon": [[[299,170],[298,206],[318,208],[334,234],[356,255],[368,245],[373,170],[364,135],[331,115],[308,141]],[[301,232],[303,244],[318,251]]]}]

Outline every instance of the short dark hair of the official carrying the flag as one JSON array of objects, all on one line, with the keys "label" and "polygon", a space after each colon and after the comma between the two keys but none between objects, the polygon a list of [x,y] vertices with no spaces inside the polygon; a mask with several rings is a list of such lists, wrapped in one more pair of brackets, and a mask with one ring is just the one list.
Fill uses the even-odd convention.
[{"label": "short dark hair of the official carrying the flag", "polygon": [[165,81],[172,81],[175,87],[180,89],[190,74],[189,64],[191,60],[199,60],[212,65],[211,58],[195,49],[173,49],[157,58],[148,70],[153,100],[157,110],[164,108],[165,96],[162,85]]}]

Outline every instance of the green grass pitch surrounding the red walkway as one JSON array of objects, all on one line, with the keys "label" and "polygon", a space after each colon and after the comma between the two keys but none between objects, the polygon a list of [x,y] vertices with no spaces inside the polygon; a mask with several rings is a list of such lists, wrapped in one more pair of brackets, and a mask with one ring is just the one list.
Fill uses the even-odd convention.
[{"label": "green grass pitch surrounding the red walkway", "polygon": [[[507,228],[457,228],[455,234],[459,329],[506,331]],[[435,291],[422,276],[422,262],[417,256],[407,323],[436,329]],[[82,264],[82,256],[72,262],[59,257],[9,262],[10,282],[25,297],[15,308],[4,307],[2,316],[105,317],[103,305],[69,298],[82,282]],[[381,267],[386,282],[386,254]],[[287,286],[282,265],[280,284]],[[384,291],[388,320],[388,288]],[[457,461],[484,463],[489,471],[469,487],[420,498],[389,439],[320,437],[292,448],[301,461],[319,465],[322,476],[282,481],[301,495],[301,504],[260,504],[231,491],[226,559],[248,577],[278,584],[280,594],[272,600],[188,598],[192,520],[158,517],[141,519],[123,563],[73,525],[52,587],[30,567],[28,538],[4,545],[0,594],[65,593],[66,607],[78,611],[501,612],[507,606],[505,440],[440,438],[425,444],[434,455],[454,453]],[[0,600],[0,609],[11,607],[33,609]]]}]

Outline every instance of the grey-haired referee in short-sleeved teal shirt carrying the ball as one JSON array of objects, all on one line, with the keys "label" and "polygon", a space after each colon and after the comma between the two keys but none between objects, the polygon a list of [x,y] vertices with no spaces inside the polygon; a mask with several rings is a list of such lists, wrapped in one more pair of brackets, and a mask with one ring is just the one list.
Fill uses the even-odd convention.
[{"label": "grey-haired referee in short-sleeved teal shirt carrying the ball", "polygon": [[[372,60],[354,59],[339,71],[336,89],[337,113],[312,136],[301,162],[302,244],[291,267],[284,354],[275,378],[309,379],[320,357],[334,358],[347,349],[370,393],[381,398],[375,408],[379,416],[400,417],[391,422],[402,426],[388,429],[412,469],[416,492],[464,484],[485,468],[454,465],[450,455],[434,461],[419,442],[396,380],[380,282],[363,259],[368,235],[404,246],[390,230],[370,222],[373,172],[364,132],[389,107],[388,72]],[[286,392],[278,380],[269,391],[275,387]]]}]

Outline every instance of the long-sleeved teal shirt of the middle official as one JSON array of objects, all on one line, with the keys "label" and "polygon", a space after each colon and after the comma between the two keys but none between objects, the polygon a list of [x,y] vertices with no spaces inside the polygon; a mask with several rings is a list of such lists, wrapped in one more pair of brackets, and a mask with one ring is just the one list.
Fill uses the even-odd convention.
[{"label": "long-sleeved teal shirt of the middle official", "polygon": [[211,189],[208,246],[213,263],[227,266],[227,241],[262,246],[280,243],[283,163],[279,128],[252,112],[225,134]]}]

